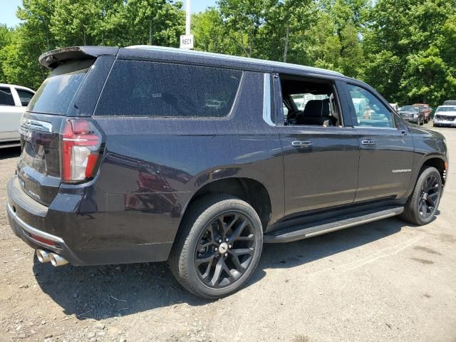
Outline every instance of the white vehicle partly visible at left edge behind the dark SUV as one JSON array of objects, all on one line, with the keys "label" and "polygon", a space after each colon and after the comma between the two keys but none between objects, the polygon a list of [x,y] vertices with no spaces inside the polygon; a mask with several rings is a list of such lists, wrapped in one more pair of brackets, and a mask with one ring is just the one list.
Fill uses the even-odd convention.
[{"label": "white vehicle partly visible at left edge behind the dark SUV", "polygon": [[0,83],[0,148],[19,146],[19,123],[35,92]]}]

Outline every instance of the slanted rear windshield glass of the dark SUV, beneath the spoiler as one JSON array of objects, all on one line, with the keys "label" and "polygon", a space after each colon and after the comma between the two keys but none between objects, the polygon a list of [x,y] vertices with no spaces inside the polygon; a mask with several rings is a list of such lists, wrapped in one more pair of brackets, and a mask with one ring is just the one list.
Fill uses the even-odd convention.
[{"label": "slanted rear windshield glass of the dark SUV, beneath the spoiler", "polygon": [[33,96],[27,110],[35,113],[66,115],[76,91],[93,60],[73,61],[54,69]]}]

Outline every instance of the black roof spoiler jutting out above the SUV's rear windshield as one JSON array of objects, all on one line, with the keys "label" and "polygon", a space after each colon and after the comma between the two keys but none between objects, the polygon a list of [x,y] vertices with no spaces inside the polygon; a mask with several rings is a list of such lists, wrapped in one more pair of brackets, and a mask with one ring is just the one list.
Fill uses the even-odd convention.
[{"label": "black roof spoiler jutting out above the SUV's rear windshield", "polygon": [[99,56],[115,56],[119,48],[108,46],[72,46],[70,48],[58,48],[48,51],[38,57],[41,66],[53,70],[64,61],[71,59],[83,60],[92,59]]}]

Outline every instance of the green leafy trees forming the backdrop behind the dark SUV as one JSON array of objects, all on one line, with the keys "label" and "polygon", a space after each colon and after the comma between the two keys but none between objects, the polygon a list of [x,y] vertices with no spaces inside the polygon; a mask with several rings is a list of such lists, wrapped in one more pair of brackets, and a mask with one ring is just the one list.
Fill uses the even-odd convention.
[{"label": "green leafy trees forming the backdrop behind the dark SUV", "polygon": [[[182,1],[23,0],[0,26],[0,82],[37,88],[44,51],[178,46]],[[456,0],[218,0],[192,15],[195,48],[361,78],[391,102],[456,98]]]}]

